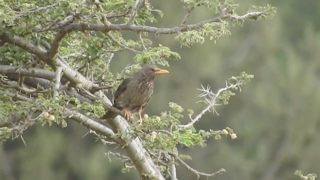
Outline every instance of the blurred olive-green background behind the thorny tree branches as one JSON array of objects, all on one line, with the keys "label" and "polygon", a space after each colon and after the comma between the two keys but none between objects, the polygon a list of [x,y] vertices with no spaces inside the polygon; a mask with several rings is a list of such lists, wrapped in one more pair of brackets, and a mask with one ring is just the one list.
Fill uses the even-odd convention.
[{"label": "blurred olive-green background behind the thorny tree branches", "polygon": [[[185,11],[178,0],[150,0],[163,11],[156,26],[180,24]],[[152,2],[153,1],[153,2]],[[200,171],[214,172],[214,179],[297,179],[296,169],[320,174],[320,3],[317,0],[236,0],[237,13],[251,5],[277,7],[272,19],[246,21],[230,28],[231,35],[206,40],[190,48],[180,47],[174,35],[153,37],[180,54],[170,61],[169,75],[156,79],[154,95],[144,111],[158,115],[168,110],[168,102],[201,110],[195,102],[200,84],[212,90],[224,87],[225,80],[245,71],[254,74],[251,82],[217,108],[220,115],[207,113],[197,129],[233,128],[238,138],[209,140],[207,147],[181,149],[192,156],[187,163]],[[188,23],[210,18],[203,9],[195,10]],[[132,62],[129,52],[115,55],[115,73]],[[188,118],[182,119],[187,122]],[[137,173],[121,172],[121,162],[109,161],[108,146],[85,135],[86,128],[68,122],[61,128],[33,126],[23,138],[0,145],[0,179],[138,179]],[[177,167],[178,179],[196,179]],[[206,179],[204,177],[200,179]]]}]

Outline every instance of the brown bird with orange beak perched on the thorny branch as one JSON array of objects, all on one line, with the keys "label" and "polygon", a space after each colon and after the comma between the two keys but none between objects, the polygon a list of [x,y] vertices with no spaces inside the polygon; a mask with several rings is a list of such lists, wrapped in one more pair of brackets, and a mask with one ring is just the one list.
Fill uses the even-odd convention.
[{"label": "brown bird with orange beak perched on the thorny branch", "polygon": [[[137,122],[142,123],[141,112],[152,96],[155,75],[168,72],[155,65],[143,67],[121,82],[114,93],[112,106],[119,110],[124,109],[124,117],[127,120],[129,120],[131,113],[138,112],[139,119]],[[108,110],[102,118],[114,118],[116,115],[115,112]]]}]

